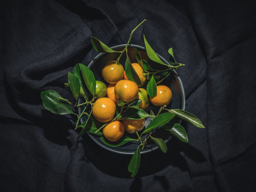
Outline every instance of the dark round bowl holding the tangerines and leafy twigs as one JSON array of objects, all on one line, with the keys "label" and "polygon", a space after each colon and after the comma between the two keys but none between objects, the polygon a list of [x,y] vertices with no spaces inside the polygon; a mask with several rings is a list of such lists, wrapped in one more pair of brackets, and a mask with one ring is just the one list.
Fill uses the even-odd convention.
[{"label": "dark round bowl holding the tangerines and leafy twigs", "polygon": [[[117,45],[117,46],[111,47],[111,49],[116,50],[116,51],[122,51],[125,46],[126,46],[125,44]],[[127,53],[129,55],[129,58],[132,63],[137,62],[137,60],[135,59],[135,56],[134,56],[135,48],[137,48],[137,50],[139,51],[141,58],[148,61],[153,68],[157,68],[157,69],[163,68],[163,66],[161,64],[151,61],[148,58],[148,55],[147,55],[144,47],[131,44],[127,47]],[[167,62],[163,57],[161,57],[161,55],[159,55],[159,54],[157,54],[157,55],[164,63],[169,65],[169,62]],[[119,56],[119,53],[99,53],[89,63],[88,67],[93,71],[93,74],[94,74],[96,80],[102,81],[106,85],[108,85],[108,83],[103,79],[103,77],[101,75],[101,70],[102,70],[103,66],[108,61],[116,60],[118,58],[118,56]],[[125,59],[126,59],[126,54],[123,54],[120,59],[120,63],[123,65],[123,67],[125,64]],[[172,90],[172,94],[173,94],[172,101],[167,106],[167,108],[184,110],[185,109],[185,93],[183,90],[183,85],[182,85],[181,79],[179,78],[176,71],[173,70],[172,73],[161,84],[169,86],[170,89]],[[83,101],[81,99],[78,100],[78,103],[82,103],[82,102]],[[154,113],[157,113],[158,109],[159,109],[159,107],[149,105],[149,107],[146,109],[146,112],[150,114],[150,110],[153,110]],[[78,108],[78,113],[79,113],[79,115],[82,113],[81,108]],[[83,123],[85,121],[86,121],[86,116],[83,116],[81,118],[81,123]],[[181,122],[180,119],[175,118],[175,117],[171,121],[172,121],[172,123],[180,123]],[[146,118],[145,126],[147,126],[149,123],[150,123],[150,117]],[[96,142],[99,146],[101,146],[102,148],[105,148],[113,153],[132,155],[138,147],[138,141],[131,141],[131,142],[125,143],[125,145],[119,146],[119,147],[110,147],[110,146],[107,146],[105,143],[103,143],[98,135],[91,134],[89,132],[86,132],[86,133],[89,134],[89,137],[94,142]],[[138,139],[136,134],[130,134],[130,133],[126,133],[126,132],[125,132],[125,134],[129,135],[129,137],[132,137],[134,139]],[[163,129],[158,129],[157,131],[153,132],[152,136],[161,138],[166,143],[171,139],[172,134]],[[146,135],[143,135],[142,139],[144,139],[145,137],[146,137]],[[141,151],[141,154],[149,153],[158,148],[159,147],[154,142],[152,142],[152,141],[148,142],[145,149]]]}]

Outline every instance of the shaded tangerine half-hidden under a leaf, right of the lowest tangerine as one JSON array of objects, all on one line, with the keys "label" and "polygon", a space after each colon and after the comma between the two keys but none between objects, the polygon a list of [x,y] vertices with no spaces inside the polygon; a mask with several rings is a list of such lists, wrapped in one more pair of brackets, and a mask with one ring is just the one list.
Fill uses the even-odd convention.
[{"label": "shaded tangerine half-hidden under a leaf, right of the lowest tangerine", "polygon": [[141,131],[145,126],[145,119],[127,119],[123,120],[124,129],[128,133],[135,133],[135,131]]}]

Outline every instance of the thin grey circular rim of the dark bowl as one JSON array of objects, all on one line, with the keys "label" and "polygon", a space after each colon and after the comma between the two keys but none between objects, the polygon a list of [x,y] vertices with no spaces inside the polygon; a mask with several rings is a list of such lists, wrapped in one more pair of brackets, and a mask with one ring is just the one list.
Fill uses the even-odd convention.
[{"label": "thin grey circular rim of the dark bowl", "polygon": [[[121,44],[121,45],[112,46],[112,47],[110,47],[110,48],[113,49],[113,50],[115,50],[115,49],[118,49],[118,48],[121,48],[121,47],[125,47],[125,46],[126,46],[126,44]],[[142,50],[142,51],[146,51],[145,47],[142,47],[142,46],[140,46],[140,45],[129,44],[128,47],[135,47],[135,48],[140,49],[140,50]],[[91,62],[89,63],[89,65],[88,65],[87,67],[90,68],[90,67],[93,65],[93,63],[94,63],[95,61],[97,61],[100,57],[102,57],[102,55],[105,55],[105,54],[107,54],[107,53],[99,53],[98,55],[96,55],[96,56],[91,60]],[[170,63],[167,62],[161,55],[159,55],[158,53],[156,53],[156,54],[157,54],[157,56],[158,56],[164,63],[170,65]],[[180,77],[178,76],[177,72],[176,72],[174,69],[173,69],[173,73],[174,73],[175,78],[177,78],[177,81],[178,81],[178,83],[179,83],[179,85],[180,85],[180,90],[181,90],[181,109],[182,109],[182,110],[185,110],[186,99],[185,99],[185,91],[184,91],[184,88],[183,88],[183,84],[182,84],[182,82],[181,82]],[[82,118],[81,118],[81,123],[83,123],[83,122],[82,122]],[[179,123],[181,123],[181,120],[179,121]],[[89,135],[89,137],[90,137],[95,143],[97,143],[99,146],[101,146],[102,148],[104,148],[104,149],[106,149],[106,150],[108,150],[108,151],[111,151],[111,152],[114,152],[114,153],[117,153],[117,154],[122,154],[122,155],[133,155],[133,154],[134,154],[134,153],[129,153],[129,152],[116,151],[116,150],[114,150],[115,147],[113,147],[113,148],[108,148],[107,145],[105,145],[103,142],[102,142],[102,143],[99,143],[98,140],[96,140],[95,138],[93,138],[89,133],[87,133],[87,134]],[[172,135],[165,141],[165,143],[167,143],[168,141],[170,141],[171,137],[172,137]],[[148,150],[143,150],[143,151],[141,151],[140,154],[150,153],[150,152],[152,152],[152,151],[154,151],[154,150],[156,150],[156,149],[158,149],[158,148],[159,148],[159,147],[156,145],[156,147],[150,148],[150,149],[148,149]]]}]

